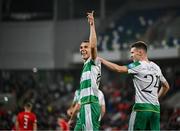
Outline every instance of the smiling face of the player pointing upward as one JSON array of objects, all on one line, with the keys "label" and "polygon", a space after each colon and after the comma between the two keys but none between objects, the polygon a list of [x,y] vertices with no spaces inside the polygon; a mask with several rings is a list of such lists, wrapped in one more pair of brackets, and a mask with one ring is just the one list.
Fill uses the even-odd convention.
[{"label": "smiling face of the player pointing upward", "polygon": [[87,60],[90,57],[90,44],[88,42],[81,43],[80,53],[83,60]]}]

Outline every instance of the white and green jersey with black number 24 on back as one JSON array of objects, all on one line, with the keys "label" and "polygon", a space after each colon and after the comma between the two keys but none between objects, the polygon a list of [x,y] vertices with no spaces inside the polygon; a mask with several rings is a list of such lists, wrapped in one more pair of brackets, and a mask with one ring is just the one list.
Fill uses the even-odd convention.
[{"label": "white and green jersey with black number 24 on back", "polygon": [[[160,81],[166,81],[160,67],[154,62],[147,61],[134,62],[127,67],[128,73],[133,75],[136,90],[134,108],[148,109],[149,105],[154,105],[155,109],[151,109],[151,107],[149,109],[158,111],[158,88]],[[145,104],[142,106],[143,103]]]}]

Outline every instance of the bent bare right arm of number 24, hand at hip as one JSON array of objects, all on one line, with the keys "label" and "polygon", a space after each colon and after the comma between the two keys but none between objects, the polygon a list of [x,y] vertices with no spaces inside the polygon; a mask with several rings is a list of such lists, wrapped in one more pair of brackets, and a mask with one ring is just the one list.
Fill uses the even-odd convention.
[{"label": "bent bare right arm of number 24, hand at hip", "polygon": [[158,98],[161,98],[162,96],[166,95],[168,90],[170,89],[168,82],[162,82],[161,89],[158,92]]}]

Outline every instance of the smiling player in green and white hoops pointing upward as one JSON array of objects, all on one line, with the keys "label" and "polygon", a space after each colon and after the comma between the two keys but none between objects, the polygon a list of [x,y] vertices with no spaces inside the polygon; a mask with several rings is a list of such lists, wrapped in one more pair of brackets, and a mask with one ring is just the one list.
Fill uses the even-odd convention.
[{"label": "smiling player in green and white hoops pointing upward", "polygon": [[[79,126],[75,130],[99,130],[101,118],[101,106],[98,99],[98,88],[101,78],[101,62],[97,59],[97,38],[95,31],[94,12],[87,13],[90,26],[89,41],[83,41],[80,45],[80,53],[84,60],[84,66],[80,79],[79,104],[75,106],[79,110]],[[71,123],[71,121],[69,121]]]}]

